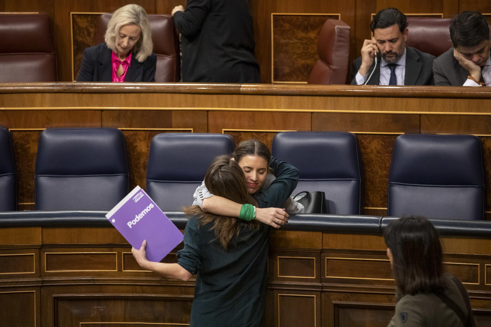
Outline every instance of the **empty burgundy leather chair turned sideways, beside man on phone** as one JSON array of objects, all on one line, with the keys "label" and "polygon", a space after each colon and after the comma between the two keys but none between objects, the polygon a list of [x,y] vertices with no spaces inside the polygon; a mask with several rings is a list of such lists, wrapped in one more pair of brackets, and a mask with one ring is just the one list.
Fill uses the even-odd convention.
[{"label": "empty burgundy leather chair turned sideways, beside man on phone", "polygon": [[328,19],[317,40],[319,60],[307,79],[309,84],[346,84],[350,57],[350,26]]}]

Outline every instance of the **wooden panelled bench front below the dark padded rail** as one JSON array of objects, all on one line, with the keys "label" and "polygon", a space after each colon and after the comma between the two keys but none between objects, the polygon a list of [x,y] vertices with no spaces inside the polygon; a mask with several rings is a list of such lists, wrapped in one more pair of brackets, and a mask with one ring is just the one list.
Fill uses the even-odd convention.
[{"label": "wooden panelled bench front below the dark padded rail", "polygon": [[[21,234],[23,246],[4,237]],[[0,228],[0,243],[0,270],[18,266],[0,275],[5,326],[189,326],[195,279],[142,271],[114,228]],[[36,243],[38,252],[26,248]],[[477,326],[488,326],[491,240],[448,236],[442,244],[446,271],[463,281]],[[176,262],[176,250],[164,262]],[[385,250],[380,235],[273,230],[266,326],[387,326],[396,300]],[[32,266],[34,276],[24,272]]]}]

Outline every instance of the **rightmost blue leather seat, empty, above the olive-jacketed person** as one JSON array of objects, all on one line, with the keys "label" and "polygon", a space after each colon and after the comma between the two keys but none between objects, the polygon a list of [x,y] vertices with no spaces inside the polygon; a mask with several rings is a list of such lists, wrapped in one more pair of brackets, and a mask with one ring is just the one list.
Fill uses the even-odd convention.
[{"label": "rightmost blue leather seat, empty, above the olive-jacketed person", "polygon": [[405,134],[396,138],[388,215],[483,219],[481,142],[473,135]]}]

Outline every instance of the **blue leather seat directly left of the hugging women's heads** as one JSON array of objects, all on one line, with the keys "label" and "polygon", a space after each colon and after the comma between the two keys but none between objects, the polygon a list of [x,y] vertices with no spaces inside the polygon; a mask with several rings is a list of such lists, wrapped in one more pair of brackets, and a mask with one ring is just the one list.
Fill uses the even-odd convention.
[{"label": "blue leather seat directly left of the hugging women's heads", "polygon": [[147,193],[163,211],[181,211],[192,204],[213,159],[234,151],[227,134],[163,133],[150,144]]}]

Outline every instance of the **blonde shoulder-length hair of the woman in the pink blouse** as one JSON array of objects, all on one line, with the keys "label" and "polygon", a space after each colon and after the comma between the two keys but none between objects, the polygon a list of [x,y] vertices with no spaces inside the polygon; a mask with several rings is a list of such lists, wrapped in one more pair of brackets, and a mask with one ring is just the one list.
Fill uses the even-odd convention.
[{"label": "blonde shoulder-length hair of the woman in the pink blouse", "polygon": [[153,50],[152,29],[145,9],[137,4],[127,4],[112,13],[104,41],[106,41],[108,48],[114,52],[116,52],[116,35],[123,25],[140,27],[141,36],[133,47],[133,55],[136,55],[136,60],[139,62],[145,61]]}]

